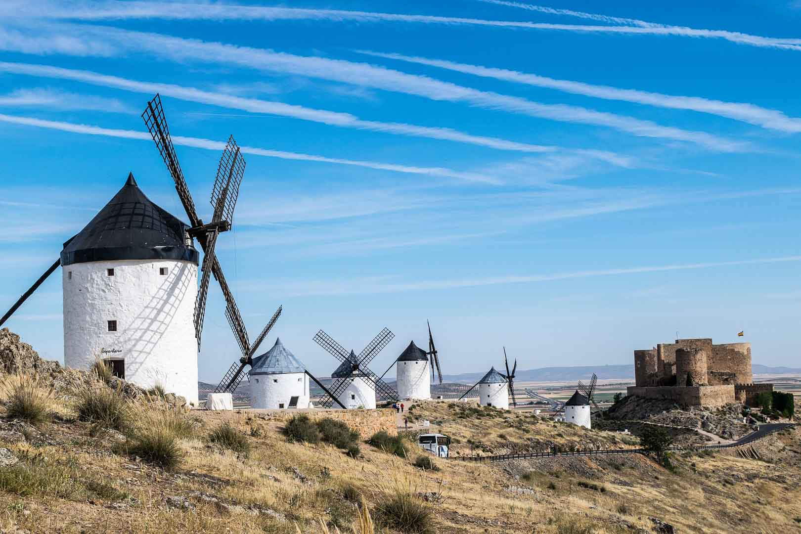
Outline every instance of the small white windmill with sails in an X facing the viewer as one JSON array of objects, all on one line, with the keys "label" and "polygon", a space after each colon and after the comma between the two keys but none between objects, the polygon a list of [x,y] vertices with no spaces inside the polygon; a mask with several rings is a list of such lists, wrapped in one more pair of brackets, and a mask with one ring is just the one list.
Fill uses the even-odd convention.
[{"label": "small white windmill with sails in an X facing the viewer", "polygon": [[[314,341],[341,362],[339,367],[336,367],[336,370],[332,373],[334,383],[330,391],[326,391],[326,395],[320,401],[320,405],[324,408],[331,408],[335,399],[342,401],[343,397],[348,394],[352,395],[352,400],[359,403],[350,404],[361,405],[364,408],[375,408],[376,398],[379,396],[384,400],[397,400],[398,397],[395,390],[367,367],[368,363],[394,337],[395,335],[391,331],[384,328],[367,347],[364,347],[364,350],[359,355],[356,355],[354,351],[348,353],[340,343],[336,343],[324,331],[318,331],[314,336]],[[348,402],[343,401],[337,404],[348,404]],[[356,406],[352,406],[352,408],[356,408]]]}]

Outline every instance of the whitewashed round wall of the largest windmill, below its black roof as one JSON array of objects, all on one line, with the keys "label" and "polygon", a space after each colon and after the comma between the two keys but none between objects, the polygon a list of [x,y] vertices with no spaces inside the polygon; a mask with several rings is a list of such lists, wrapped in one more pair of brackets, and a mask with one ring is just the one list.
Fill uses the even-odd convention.
[{"label": "whitewashed round wall of the largest windmill, below its black roof", "polygon": [[[197,265],[184,260],[63,267],[66,367],[87,370],[98,357],[123,359],[126,380],[146,388],[161,384],[196,405],[197,276]],[[109,321],[116,321],[116,331],[110,331]]]}]

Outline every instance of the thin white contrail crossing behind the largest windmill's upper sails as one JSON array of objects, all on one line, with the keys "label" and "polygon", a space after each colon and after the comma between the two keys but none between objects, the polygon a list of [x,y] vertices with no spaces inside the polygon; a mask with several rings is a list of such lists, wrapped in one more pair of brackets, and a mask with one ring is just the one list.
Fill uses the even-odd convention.
[{"label": "thin white contrail crossing behind the largest windmill's upper sails", "polygon": [[[33,117],[19,117],[14,115],[0,114],[0,122],[8,122],[11,124],[20,124],[24,126],[36,126],[39,128],[48,128],[50,130],[68,131],[74,134],[86,135],[104,135],[107,137],[117,137],[123,139],[140,139],[151,140],[150,134],[143,131],[135,130],[118,130],[112,128],[103,128],[100,126],[91,126],[87,124],[75,124],[72,122],[49,121],[41,118]],[[172,138],[173,143],[182,145],[184,147],[203,148],[211,151],[222,151],[225,148],[225,143],[221,141],[212,141],[211,139],[201,139],[196,137],[183,137],[175,135]],[[320,163],[336,163],[338,165],[350,165],[353,167],[365,167],[368,169],[376,169],[379,171],[392,171],[413,175],[426,175],[439,178],[452,178],[467,180],[470,182],[483,182],[483,183],[497,183],[497,180],[478,173],[460,172],[447,169],[445,167],[413,167],[409,165],[397,165],[395,163],[380,163],[371,161],[360,161],[354,159],[342,158],[328,158],[319,155],[299,154],[296,152],[287,151],[273,151],[266,148],[257,147],[239,147],[244,154],[260,155],[268,158],[279,159],[292,159],[296,161],[313,161]]]}]

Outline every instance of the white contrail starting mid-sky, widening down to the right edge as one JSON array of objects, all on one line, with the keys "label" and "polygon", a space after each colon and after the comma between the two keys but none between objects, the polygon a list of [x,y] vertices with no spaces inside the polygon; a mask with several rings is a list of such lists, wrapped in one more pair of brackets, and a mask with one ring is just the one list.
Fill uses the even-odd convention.
[{"label": "white contrail starting mid-sky, widening down to the right edge", "polygon": [[702,113],[715,114],[721,117],[762,126],[770,130],[779,130],[788,133],[801,131],[801,118],[788,117],[779,110],[771,110],[755,104],[741,102],[723,102],[710,98],[695,96],[674,96],[671,94],[652,93],[634,89],[619,89],[610,86],[598,86],[571,80],[546,78],[537,74],[527,74],[517,70],[498,69],[487,66],[468,65],[443,61],[439,59],[421,58],[403,54],[384,54],[371,50],[356,50],[378,58],[396,59],[398,61],[416,63],[418,65],[437,66],[447,70],[454,70],[465,74],[474,74],[484,78],[494,78],[507,82],[525,83],[529,86],[546,87],[565,91],[567,93],[582,94],[594,98],[607,100],[621,100],[649,106],[666,107],[674,110],[692,110]]}]

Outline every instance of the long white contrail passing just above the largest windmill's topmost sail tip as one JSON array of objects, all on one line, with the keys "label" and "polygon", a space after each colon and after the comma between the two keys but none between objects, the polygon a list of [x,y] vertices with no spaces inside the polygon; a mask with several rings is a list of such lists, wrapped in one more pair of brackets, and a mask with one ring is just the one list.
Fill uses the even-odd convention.
[{"label": "long white contrail passing just above the largest windmill's topmost sail tip", "polygon": [[[356,128],[359,130],[380,131],[396,135],[412,135],[429,139],[442,139],[457,143],[468,143],[481,147],[495,148],[505,151],[548,152],[557,147],[517,143],[506,139],[497,139],[481,135],[470,135],[451,128],[416,126],[402,122],[380,122],[363,120],[349,113],[318,110],[305,106],[295,106],[284,102],[272,102],[259,98],[242,98],[233,94],[199,90],[195,87],[178,86],[171,83],[139,82],[129,78],[119,78],[107,74],[99,74],[88,70],[64,69],[57,66],[30,65],[26,63],[0,62],[0,72],[27,74],[38,77],[67,79],[92,85],[129,90],[136,93],[160,93],[172,98],[188,102],[198,102],[220,106],[228,109],[243,110],[250,113],[273,114],[282,117],[299,118],[301,120],[321,122],[331,126]],[[0,101],[2,102],[2,101]]]}]

